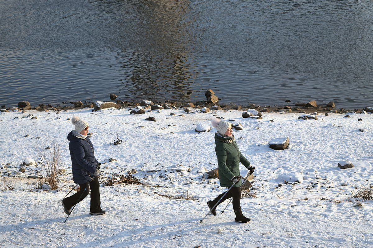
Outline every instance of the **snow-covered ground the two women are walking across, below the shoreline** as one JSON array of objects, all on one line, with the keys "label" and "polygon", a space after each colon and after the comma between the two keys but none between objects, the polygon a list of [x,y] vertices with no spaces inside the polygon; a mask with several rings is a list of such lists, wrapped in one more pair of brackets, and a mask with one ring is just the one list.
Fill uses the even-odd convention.
[{"label": "snow-covered ground the two women are walking across, below the shoreline", "polygon": [[[351,199],[352,192],[373,184],[372,114],[320,113],[318,120],[298,120],[300,113],[285,112],[251,119],[237,110],[130,111],[0,113],[0,247],[373,247],[373,201]],[[101,187],[105,215],[89,215],[87,197],[64,222],[67,215],[58,201],[74,185],[66,139],[73,129],[68,118],[74,115],[93,132],[95,155],[103,163],[101,181],[135,169],[133,175],[144,185]],[[156,122],[145,120],[149,116]],[[233,133],[256,167],[249,192],[256,197],[241,200],[248,223],[234,222],[232,204],[221,213],[228,201],[216,216],[200,222],[207,200],[225,191],[218,179],[203,178],[217,167],[216,130],[195,132],[215,117],[241,123],[243,130]],[[269,148],[269,141],[285,137],[288,149]],[[53,144],[65,149],[60,188],[36,189],[40,181],[28,176],[45,175],[45,170],[35,148]],[[37,164],[22,166],[21,172],[26,158]],[[342,170],[341,161],[354,167]],[[241,166],[241,174],[246,173]],[[301,183],[285,183],[297,179]]]}]

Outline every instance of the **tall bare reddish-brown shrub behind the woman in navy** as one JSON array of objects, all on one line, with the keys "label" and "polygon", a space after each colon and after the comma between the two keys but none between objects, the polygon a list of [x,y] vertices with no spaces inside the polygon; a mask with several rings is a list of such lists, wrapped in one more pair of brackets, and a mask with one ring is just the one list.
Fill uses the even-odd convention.
[{"label": "tall bare reddish-brown shrub behind the woman in navy", "polygon": [[40,162],[46,171],[46,182],[52,190],[55,190],[58,189],[58,171],[60,169],[64,149],[62,149],[62,145],[57,142],[53,142],[50,149],[45,149],[44,147],[46,146],[38,143],[35,146],[35,152],[40,157]]}]

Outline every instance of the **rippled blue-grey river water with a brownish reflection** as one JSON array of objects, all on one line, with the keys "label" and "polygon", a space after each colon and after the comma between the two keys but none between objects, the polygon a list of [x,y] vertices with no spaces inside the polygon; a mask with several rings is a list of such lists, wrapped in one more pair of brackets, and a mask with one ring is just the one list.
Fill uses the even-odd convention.
[{"label": "rippled blue-grey river water with a brownish reflection", "polygon": [[0,34],[7,107],[209,88],[220,104],[373,106],[372,1],[2,0]]}]

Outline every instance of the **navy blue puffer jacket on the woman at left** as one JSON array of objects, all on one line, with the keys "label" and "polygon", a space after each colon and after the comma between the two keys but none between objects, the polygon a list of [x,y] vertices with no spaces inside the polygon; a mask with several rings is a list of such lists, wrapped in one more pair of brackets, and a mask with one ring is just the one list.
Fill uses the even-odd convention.
[{"label": "navy blue puffer jacket on the woman at left", "polygon": [[91,177],[93,177],[93,173],[97,169],[97,160],[94,157],[90,138],[84,139],[73,130],[68,134],[68,141],[70,141],[69,149],[74,183],[91,181]]}]

